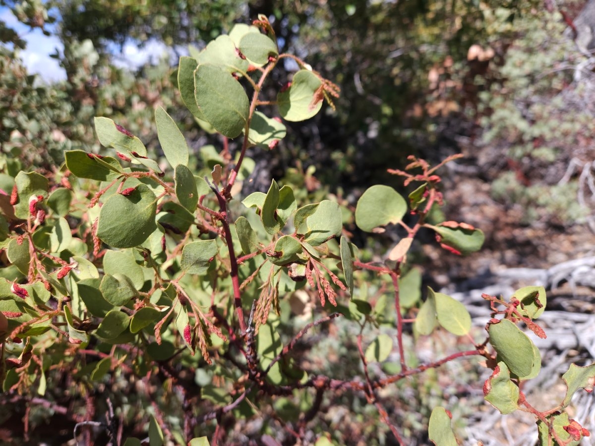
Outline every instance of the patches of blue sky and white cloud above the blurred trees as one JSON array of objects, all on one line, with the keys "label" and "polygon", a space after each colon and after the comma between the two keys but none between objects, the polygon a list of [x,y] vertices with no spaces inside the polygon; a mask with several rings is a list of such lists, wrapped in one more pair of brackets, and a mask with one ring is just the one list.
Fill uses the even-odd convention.
[{"label": "patches of blue sky and white cloud above the blurred trees", "polygon": [[[49,56],[54,54],[56,49],[60,53],[64,51],[64,46],[57,37],[45,36],[40,29],[30,30],[29,27],[20,23],[6,7],[0,8],[0,20],[19,33],[21,39],[27,41],[27,48],[20,51],[18,55],[29,73],[39,74],[42,80],[49,83],[66,78],[58,61]],[[168,48],[164,43],[156,40],[146,42],[142,49],[139,49],[134,42],[126,42],[121,55],[115,54],[114,50],[113,62],[116,66],[137,68],[146,62],[156,63],[167,51]],[[119,48],[117,52],[119,53]]]}]

